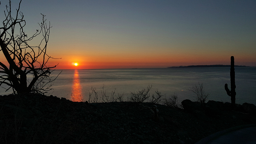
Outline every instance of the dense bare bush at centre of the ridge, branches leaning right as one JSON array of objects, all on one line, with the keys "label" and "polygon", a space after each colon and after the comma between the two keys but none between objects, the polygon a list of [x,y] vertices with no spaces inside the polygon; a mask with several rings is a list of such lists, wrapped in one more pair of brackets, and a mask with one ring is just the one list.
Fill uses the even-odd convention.
[{"label": "dense bare bush at centre of the ridge, branches leaning right", "polygon": [[152,88],[152,85],[148,85],[147,89],[139,90],[138,92],[131,92],[130,97],[127,98],[128,101],[132,102],[140,102],[142,103],[144,100],[147,100],[150,97],[150,94],[148,93],[150,89]]}]

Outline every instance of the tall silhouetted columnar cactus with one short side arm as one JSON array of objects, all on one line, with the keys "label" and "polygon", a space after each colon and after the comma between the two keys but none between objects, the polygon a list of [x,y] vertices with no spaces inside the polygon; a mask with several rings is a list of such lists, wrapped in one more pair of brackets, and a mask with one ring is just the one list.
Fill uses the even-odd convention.
[{"label": "tall silhouetted columnar cactus with one short side arm", "polygon": [[228,84],[225,84],[225,90],[228,94],[228,96],[231,97],[231,106],[234,109],[236,106],[236,83],[235,83],[235,68],[234,68],[234,56],[231,56],[231,63],[230,63],[230,82],[231,82],[231,88],[230,91],[228,89]]}]

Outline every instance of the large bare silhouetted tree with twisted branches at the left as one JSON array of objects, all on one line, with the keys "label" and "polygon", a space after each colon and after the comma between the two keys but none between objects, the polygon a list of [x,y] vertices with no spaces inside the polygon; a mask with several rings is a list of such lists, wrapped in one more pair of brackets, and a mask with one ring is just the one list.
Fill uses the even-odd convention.
[{"label": "large bare silhouetted tree with twisted branches at the left", "polygon": [[[45,15],[42,14],[43,21],[38,23],[40,29],[37,29],[33,36],[28,37],[23,29],[26,21],[23,19],[23,13],[19,12],[20,3],[13,17],[11,0],[9,0],[9,5],[6,5],[6,11],[4,11],[3,27],[0,26],[0,52],[3,52],[9,64],[8,68],[8,65],[0,62],[0,86],[6,84],[8,85],[6,91],[12,88],[13,92],[18,93],[45,93],[51,90],[49,83],[56,79],[52,79],[51,75],[53,71],[51,68],[55,68],[56,65],[46,65],[49,59],[53,59],[46,54],[50,22],[47,25],[46,19],[44,19]],[[43,38],[37,46],[28,44],[29,41],[40,35]],[[31,81],[28,81],[28,75],[33,76]]]}]

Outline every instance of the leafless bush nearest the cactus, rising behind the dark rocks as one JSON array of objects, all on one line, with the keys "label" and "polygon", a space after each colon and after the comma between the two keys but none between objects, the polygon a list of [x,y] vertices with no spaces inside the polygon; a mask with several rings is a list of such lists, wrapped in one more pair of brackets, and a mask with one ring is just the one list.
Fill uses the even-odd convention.
[{"label": "leafless bush nearest the cactus, rising behind the dark rocks", "polygon": [[198,85],[192,86],[192,88],[189,88],[188,90],[196,93],[196,101],[200,102],[201,105],[208,99],[207,97],[209,96],[209,93],[204,93],[203,83],[200,84],[198,82]]}]

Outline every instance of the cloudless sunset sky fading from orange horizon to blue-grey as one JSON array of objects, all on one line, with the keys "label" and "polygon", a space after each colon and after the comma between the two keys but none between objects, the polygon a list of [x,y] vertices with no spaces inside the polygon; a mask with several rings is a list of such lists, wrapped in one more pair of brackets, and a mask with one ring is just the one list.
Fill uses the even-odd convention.
[{"label": "cloudless sunset sky fading from orange horizon to blue-grey", "polygon": [[229,65],[230,56],[256,66],[255,7],[255,0],[22,0],[20,11],[28,36],[40,13],[51,22],[47,54],[61,59],[48,64],[56,69],[166,68]]}]

